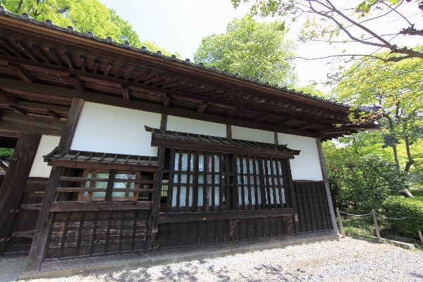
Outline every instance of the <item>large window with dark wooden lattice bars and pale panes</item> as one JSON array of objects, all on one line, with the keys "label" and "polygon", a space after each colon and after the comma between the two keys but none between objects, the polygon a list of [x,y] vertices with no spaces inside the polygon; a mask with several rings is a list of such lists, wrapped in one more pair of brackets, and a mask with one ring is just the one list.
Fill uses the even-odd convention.
[{"label": "large window with dark wooden lattice bars and pale panes", "polygon": [[167,212],[286,207],[286,159],[184,149],[167,154]]}]

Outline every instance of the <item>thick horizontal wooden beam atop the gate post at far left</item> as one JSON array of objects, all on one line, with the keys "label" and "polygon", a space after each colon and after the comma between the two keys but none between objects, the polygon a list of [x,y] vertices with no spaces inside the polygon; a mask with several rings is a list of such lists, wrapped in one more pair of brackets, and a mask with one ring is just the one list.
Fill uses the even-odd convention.
[{"label": "thick horizontal wooden beam atop the gate post at far left", "polygon": [[0,111],[0,130],[60,136],[65,121]]}]

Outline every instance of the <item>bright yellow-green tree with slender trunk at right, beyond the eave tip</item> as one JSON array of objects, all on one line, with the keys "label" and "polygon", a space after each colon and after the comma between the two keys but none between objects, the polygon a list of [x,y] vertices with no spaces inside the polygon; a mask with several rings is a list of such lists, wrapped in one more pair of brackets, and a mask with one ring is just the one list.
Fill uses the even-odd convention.
[{"label": "bright yellow-green tree with slender trunk at right, beyond the eave tip", "polygon": [[[377,56],[392,55],[385,52]],[[415,164],[412,149],[417,149],[412,145],[423,137],[423,61],[415,58],[384,63],[363,58],[331,80],[336,82],[333,98],[357,106],[379,104],[384,107],[384,118],[380,121],[384,145],[392,148],[399,168],[401,157],[397,147],[403,144],[406,161],[402,166],[406,173],[410,172]]]}]

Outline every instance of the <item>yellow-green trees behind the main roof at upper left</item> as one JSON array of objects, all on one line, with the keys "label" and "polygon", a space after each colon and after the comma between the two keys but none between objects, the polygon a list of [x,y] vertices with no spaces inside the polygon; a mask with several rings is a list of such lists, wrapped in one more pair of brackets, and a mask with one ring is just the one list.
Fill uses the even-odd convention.
[{"label": "yellow-green trees behind the main roof at upper left", "polygon": [[[28,13],[36,20],[48,19],[60,27],[72,26],[78,32],[91,31],[99,38],[111,37],[118,43],[129,42],[133,47],[145,46],[149,51],[172,55],[154,42],[141,42],[133,27],[99,0],[0,0],[0,4],[12,13]],[[180,54],[176,56],[180,58]]]}]

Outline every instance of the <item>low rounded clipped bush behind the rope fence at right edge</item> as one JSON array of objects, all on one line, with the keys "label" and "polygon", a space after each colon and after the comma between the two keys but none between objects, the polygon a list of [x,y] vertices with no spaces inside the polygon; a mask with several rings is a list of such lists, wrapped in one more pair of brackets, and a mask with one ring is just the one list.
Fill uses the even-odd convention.
[{"label": "low rounded clipped bush behind the rope fence at right edge", "polygon": [[403,220],[388,221],[401,235],[419,238],[419,231],[423,231],[423,197],[391,197],[384,202],[383,207],[387,217],[400,219],[410,216]]}]

